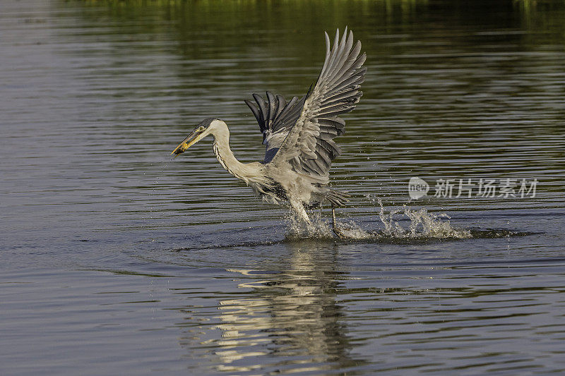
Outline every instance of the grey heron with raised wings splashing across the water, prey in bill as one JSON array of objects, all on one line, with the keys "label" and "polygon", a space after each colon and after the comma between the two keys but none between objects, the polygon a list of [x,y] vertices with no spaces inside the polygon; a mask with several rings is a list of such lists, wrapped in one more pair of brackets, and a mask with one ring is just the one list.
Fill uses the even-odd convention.
[{"label": "grey heron with raised wings splashing across the water, prey in bill", "polygon": [[218,162],[263,202],[289,205],[305,224],[311,224],[307,209],[330,204],[333,232],[343,238],[335,224],[335,207],[349,202],[349,195],[328,187],[329,169],[341,152],[334,138],[345,132],[345,121],[339,116],[352,111],[362,96],[366,54],[360,54],[361,42],[354,44],[347,27],[343,35],[336,30],[333,45],[328,33],[324,35],[326,58],[304,97],[287,102],[282,95],[266,92],[266,98],[253,94],[254,101],[245,101],[263,133],[262,162],[239,162],[230,149],[227,124],[216,118],[201,121],[171,154],[177,157],[212,135]]}]

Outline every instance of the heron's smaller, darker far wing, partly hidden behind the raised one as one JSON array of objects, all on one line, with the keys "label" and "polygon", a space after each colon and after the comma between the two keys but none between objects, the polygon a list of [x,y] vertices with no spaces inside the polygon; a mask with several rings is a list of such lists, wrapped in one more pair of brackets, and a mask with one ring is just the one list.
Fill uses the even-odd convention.
[{"label": "heron's smaller, darker far wing, partly hidden behind the raised one", "polygon": [[255,103],[249,100],[245,103],[253,111],[263,133],[263,145],[266,147],[264,162],[268,163],[278,152],[280,145],[283,145],[290,129],[300,117],[306,97],[300,100],[298,97],[293,97],[287,103],[282,95],[267,92],[267,100],[258,94],[254,94],[253,98]]}]

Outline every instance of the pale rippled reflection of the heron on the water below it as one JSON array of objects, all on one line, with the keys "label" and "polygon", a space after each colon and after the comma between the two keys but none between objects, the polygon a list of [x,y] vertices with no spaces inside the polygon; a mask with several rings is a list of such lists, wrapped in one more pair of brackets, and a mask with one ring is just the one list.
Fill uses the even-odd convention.
[{"label": "pale rippled reflection of the heron on the water below it", "polygon": [[[284,245],[287,252],[276,262],[279,272],[227,269],[245,280],[237,286],[246,291],[219,301],[217,324],[202,322],[198,330],[186,332],[182,344],[191,353],[203,350],[201,358],[224,372],[362,365],[363,360],[350,356],[347,327],[340,320],[343,307],[336,296],[347,274],[336,270],[337,251],[328,250],[327,243]],[[187,311],[198,316],[194,307]]]}]

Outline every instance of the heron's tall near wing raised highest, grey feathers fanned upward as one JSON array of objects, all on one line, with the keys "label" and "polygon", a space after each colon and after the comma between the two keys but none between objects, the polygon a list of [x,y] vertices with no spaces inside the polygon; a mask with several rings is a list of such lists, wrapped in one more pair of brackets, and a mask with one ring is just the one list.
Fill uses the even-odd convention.
[{"label": "heron's tall near wing raised highest, grey feathers fanned upward", "polygon": [[353,33],[347,28],[340,38],[335,33],[333,47],[326,33],[326,60],[314,90],[302,100],[302,112],[271,163],[290,163],[295,171],[320,183],[328,182],[331,162],[340,154],[333,138],[345,132],[345,121],[338,118],[355,108],[362,92],[366,68],[365,54],[359,56],[361,42],[353,45]]}]

